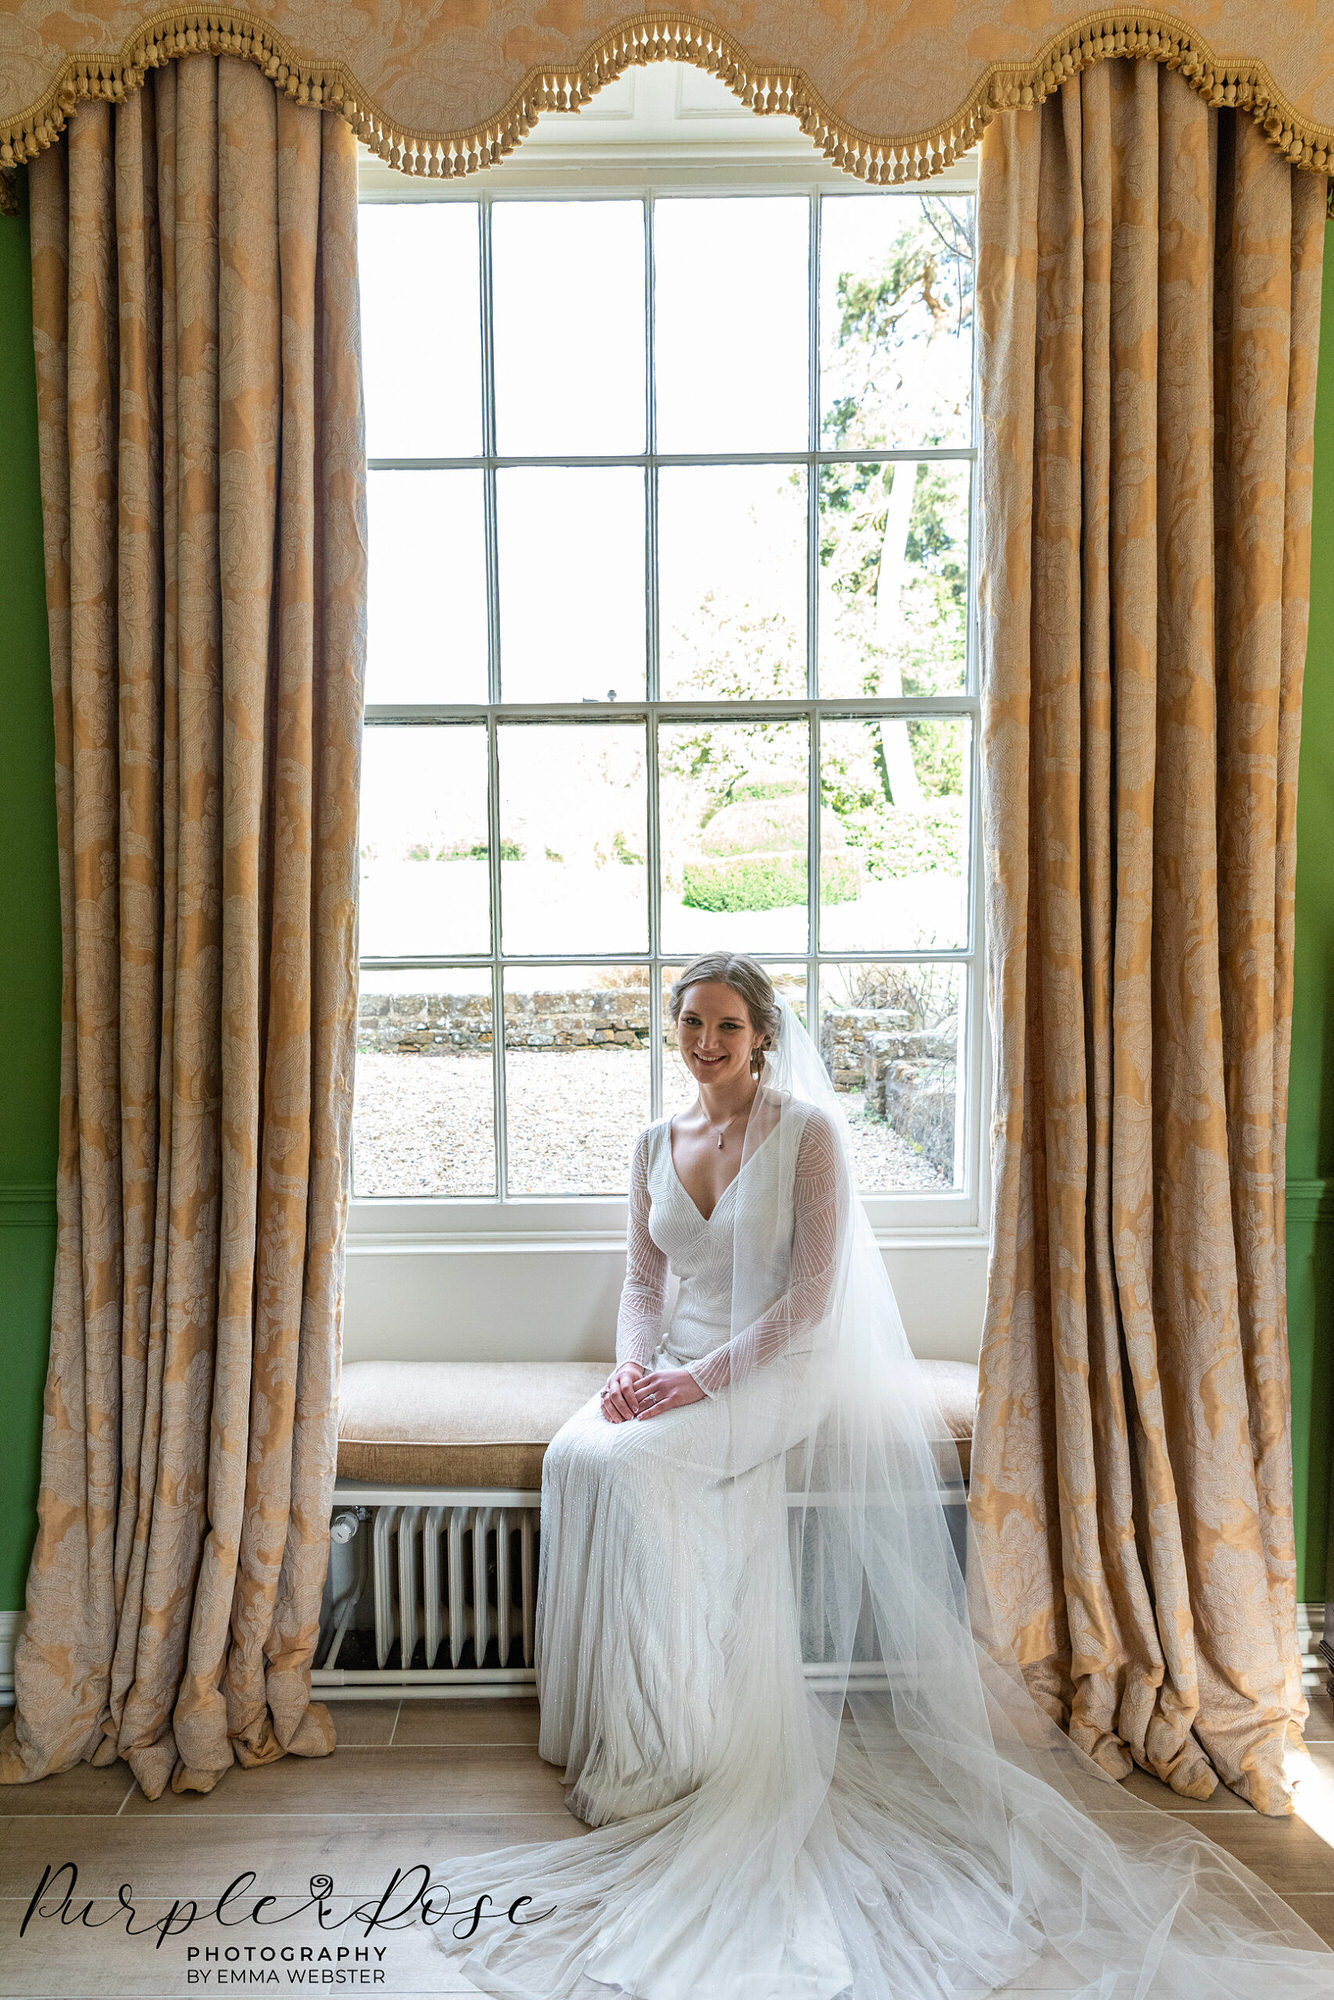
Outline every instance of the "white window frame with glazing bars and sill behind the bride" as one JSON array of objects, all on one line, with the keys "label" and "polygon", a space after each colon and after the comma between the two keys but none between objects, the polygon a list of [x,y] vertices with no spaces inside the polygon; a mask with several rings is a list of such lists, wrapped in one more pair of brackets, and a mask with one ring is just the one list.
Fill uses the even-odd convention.
[{"label": "white window frame with glazing bars and sill behind the bride", "polygon": [[[580,112],[580,122],[590,118],[592,108]],[[546,126],[552,120],[544,120]],[[792,120],[762,120],[768,126],[788,126]],[[610,128],[604,128],[610,130]],[[566,134],[560,134],[562,138]],[[602,136],[602,134],[600,134]],[[748,134],[750,138],[750,134]],[[650,210],[648,222],[648,252],[652,254],[652,204],[654,196],[660,194],[694,194],[694,196],[724,196],[724,194],[804,194],[810,198],[812,206],[812,256],[818,246],[816,228],[816,200],[818,192],[830,194],[864,194],[866,198],[882,198],[884,190],[864,188],[860,182],[842,174],[830,162],[822,160],[814,150],[810,150],[808,140],[798,144],[792,138],[782,136],[772,140],[768,132],[758,138],[750,138],[748,144],[738,144],[736,138],[728,134],[724,142],[712,138],[708,142],[698,142],[692,146],[682,146],[674,142],[670,146],[652,148],[644,144],[624,146],[612,138],[610,144],[596,146],[558,146],[536,142],[526,142],[520,150],[498,168],[490,168],[482,174],[466,176],[460,180],[430,182],[412,180],[404,174],[394,172],[370,154],[362,156],[360,166],[360,200],[362,202],[476,202],[482,212],[482,320],[484,320],[484,454],[482,458],[468,460],[368,460],[372,470],[390,468],[420,468],[420,466],[482,466],[486,474],[488,508],[492,510],[494,524],[494,472],[508,464],[570,464],[578,462],[570,456],[558,456],[548,460],[512,460],[502,458],[494,450],[494,378],[490,374],[490,336],[488,336],[488,314],[490,314],[490,210],[504,200],[610,200],[610,198],[646,198]],[[976,154],[966,156],[948,172],[934,176],[922,186],[910,186],[902,190],[906,194],[918,192],[976,192]],[[816,302],[818,302],[818,264],[812,264],[812,430],[808,436],[808,446],[818,444],[818,366],[820,354],[816,344]],[[652,338],[652,334],[650,334]],[[976,354],[976,342],[974,342]],[[652,362],[650,362],[652,364]],[[772,454],[656,454],[652,446],[656,438],[648,436],[650,450],[644,454],[626,454],[616,460],[602,460],[598,464],[658,464],[666,460],[668,464],[744,464],[744,462],[782,462],[782,464],[818,464],[822,460],[848,458],[848,460],[868,460],[884,464],[892,460],[928,460],[946,458],[954,462],[972,464],[972,520],[970,520],[970,578],[968,578],[968,636],[966,636],[966,688],[958,696],[936,696],[936,698],[904,698],[902,702],[886,700],[836,700],[836,698],[816,698],[812,686],[808,694],[800,700],[790,702],[660,702],[656,698],[646,700],[626,700],[616,702],[616,720],[640,720],[648,716],[648,784],[650,784],[650,854],[648,854],[648,874],[650,874],[650,898],[656,910],[658,906],[658,852],[656,852],[656,800],[652,790],[656,786],[656,720],[658,716],[682,718],[708,716],[714,720],[728,720],[736,716],[744,720],[748,714],[764,714],[768,720],[782,720],[788,716],[810,716],[812,718],[812,774],[810,774],[810,800],[812,818],[818,816],[818,740],[814,734],[816,710],[832,716],[854,716],[858,710],[868,710],[876,714],[922,714],[924,708],[930,714],[966,714],[972,722],[970,728],[970,776],[968,776],[968,868],[970,868],[970,894],[968,894],[968,944],[958,952],[866,952],[862,954],[870,962],[922,962],[922,960],[948,960],[958,962],[966,974],[966,1024],[960,1036],[960,1122],[956,1136],[956,1152],[962,1158],[962,1186],[938,1190],[938,1192],[886,1192],[886,1194],[864,1194],[864,1206],[872,1224],[876,1238],[882,1246],[912,1250],[932,1248],[940,1250],[950,1244],[958,1248],[976,1248],[986,1242],[990,1224],[990,1174],[988,1174],[988,1150],[984,1144],[984,1134],[990,1118],[990,1034],[986,1020],[986,952],[984,952],[984,904],[982,904],[982,866],[980,866],[980,808],[978,808],[978,774],[980,774],[980,718],[978,718],[978,632],[976,632],[976,550],[978,550],[978,396],[974,380],[974,438],[968,450],[882,450],[882,452],[846,452],[828,454],[808,448],[806,452],[772,452]],[[652,416],[650,416],[652,424]],[[812,480],[810,486],[812,506],[808,508],[810,536],[818,536],[818,486]],[[652,570],[650,570],[652,588]],[[808,622],[812,626],[808,646],[808,670],[814,670],[814,618],[816,604],[808,604]],[[490,694],[498,696],[498,648],[496,648],[496,628],[498,612],[490,606]],[[652,668],[656,660],[650,658],[650,694],[654,690]],[[498,786],[494,782],[494,730],[496,708],[504,708],[504,722],[556,722],[562,718],[578,718],[582,722],[590,720],[588,706],[584,704],[376,704],[368,708],[368,726],[392,724],[394,720],[442,720],[442,722],[486,722],[488,738],[492,746],[492,782],[490,782],[490,866],[492,876],[500,870],[500,842],[498,842]],[[818,836],[818,828],[816,828]],[[496,908],[498,884],[492,880],[492,910]],[[814,932],[814,904],[818,900],[818,876],[812,870],[810,880],[810,902],[812,902],[812,932]],[[492,938],[492,944],[502,940]],[[680,962],[680,954],[662,954],[658,926],[652,924],[650,932],[652,952],[618,952],[618,954],[572,954],[570,962],[578,966],[604,964],[644,964],[648,990],[650,990],[650,1024],[652,1040],[662,1046],[662,1000],[660,1000],[660,978],[658,962],[666,956],[670,964]],[[808,1020],[818,1020],[812,1010],[812,1000],[816,998],[814,988],[818,984],[818,972],[824,962],[848,962],[858,954],[848,952],[770,952],[758,954],[768,956],[774,962],[790,964],[796,960],[806,960],[810,966],[808,978]],[[470,962],[474,966],[484,966],[500,960],[500,954],[462,954],[462,958],[450,956],[448,960],[438,960],[438,966],[456,966]],[[538,966],[552,964],[550,954],[504,954],[504,964],[524,964],[532,962]],[[412,956],[408,960],[376,958],[370,962],[374,966],[392,968],[398,964],[420,964],[420,958]],[[424,964],[426,976],[432,972],[432,962]],[[498,976],[492,986],[496,996]],[[498,1072],[498,1094],[504,1090],[504,1080],[500,1076],[504,1064],[504,1034],[502,1034],[502,1014],[492,1016],[492,1044],[494,1062]],[[424,1060],[424,1058],[420,1058]],[[658,1116],[658,1106],[654,1102],[652,1116]],[[546,1248],[622,1248],[626,1230],[626,1196],[352,1196],[348,1204],[348,1244],[352,1250],[366,1252],[392,1252],[392,1250],[546,1250]]]}]

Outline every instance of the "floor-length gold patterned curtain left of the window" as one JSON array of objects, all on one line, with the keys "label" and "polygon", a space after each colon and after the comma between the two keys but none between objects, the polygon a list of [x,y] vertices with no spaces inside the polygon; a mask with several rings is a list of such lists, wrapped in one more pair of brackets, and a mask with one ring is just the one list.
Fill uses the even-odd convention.
[{"label": "floor-length gold patterned curtain left of the window", "polygon": [[356,994],[356,142],[236,56],[30,170],[64,926],[38,1542],[0,1778],[334,1748]]}]

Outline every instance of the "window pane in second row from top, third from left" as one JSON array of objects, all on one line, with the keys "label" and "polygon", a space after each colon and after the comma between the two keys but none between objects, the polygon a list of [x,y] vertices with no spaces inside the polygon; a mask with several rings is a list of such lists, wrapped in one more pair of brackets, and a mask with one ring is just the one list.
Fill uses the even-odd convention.
[{"label": "window pane in second row from top, third from left", "polygon": [[668,700],[806,694],[806,470],[666,466],[658,606]]}]

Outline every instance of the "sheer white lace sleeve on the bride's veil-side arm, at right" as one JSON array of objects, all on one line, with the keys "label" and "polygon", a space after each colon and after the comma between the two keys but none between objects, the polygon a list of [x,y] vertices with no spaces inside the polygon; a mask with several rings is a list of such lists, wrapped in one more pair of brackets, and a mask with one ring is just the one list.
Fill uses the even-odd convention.
[{"label": "sheer white lace sleeve on the bride's veil-side arm, at right", "polygon": [[762,1368],[798,1332],[824,1318],[850,1198],[838,1134],[822,1112],[812,1112],[798,1140],[792,1174],[788,1288],[752,1326],[690,1362],[690,1374],[706,1396],[716,1396],[728,1382]]}]

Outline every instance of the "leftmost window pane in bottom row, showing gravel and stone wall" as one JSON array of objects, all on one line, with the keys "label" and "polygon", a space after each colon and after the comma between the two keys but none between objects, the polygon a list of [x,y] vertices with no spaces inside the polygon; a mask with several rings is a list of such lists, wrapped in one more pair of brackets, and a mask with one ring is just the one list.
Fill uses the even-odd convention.
[{"label": "leftmost window pane in bottom row, showing gravel and stone wall", "polygon": [[352,1186],[494,1194],[490,972],[362,972]]}]

